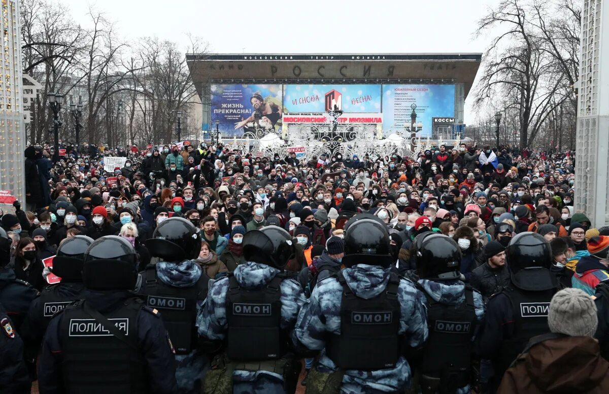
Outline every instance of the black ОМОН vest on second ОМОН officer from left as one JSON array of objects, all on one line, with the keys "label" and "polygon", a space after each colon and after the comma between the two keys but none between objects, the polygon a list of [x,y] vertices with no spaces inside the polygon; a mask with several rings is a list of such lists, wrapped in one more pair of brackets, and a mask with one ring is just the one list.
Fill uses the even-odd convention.
[{"label": "black \u041e\u041c\u041e\u041d vest on second \u041e\u041c\u041e\u041d officer from left", "polygon": [[228,277],[226,314],[228,358],[258,361],[278,359],[287,351],[287,335],[281,330],[281,281],[277,274],[266,287],[241,288]]}]

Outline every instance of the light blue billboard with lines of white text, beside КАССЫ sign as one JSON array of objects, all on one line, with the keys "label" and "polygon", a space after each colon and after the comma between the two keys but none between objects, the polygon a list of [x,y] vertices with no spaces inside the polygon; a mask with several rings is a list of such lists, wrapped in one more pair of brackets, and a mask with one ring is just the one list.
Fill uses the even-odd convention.
[{"label": "light blue billboard with lines of white text, beside \u041a\u0410\u0421\u0421\u042b sign", "polygon": [[383,85],[382,112],[385,136],[392,130],[410,125],[412,104],[417,105],[417,123],[423,123],[421,135],[432,131],[432,117],[452,117],[455,112],[454,85]]}]

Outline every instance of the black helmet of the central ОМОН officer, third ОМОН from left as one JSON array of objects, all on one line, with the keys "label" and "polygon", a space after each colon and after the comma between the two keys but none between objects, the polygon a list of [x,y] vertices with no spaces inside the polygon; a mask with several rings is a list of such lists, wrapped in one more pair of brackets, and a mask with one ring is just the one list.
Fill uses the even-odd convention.
[{"label": "black helmet of the central \u041e\u041c\u041e\u041d officer, third \u041e\u041c\u041e\u041d from left", "polygon": [[392,264],[387,225],[377,216],[360,213],[345,224],[345,257],[343,264],[378,265],[387,268]]}]

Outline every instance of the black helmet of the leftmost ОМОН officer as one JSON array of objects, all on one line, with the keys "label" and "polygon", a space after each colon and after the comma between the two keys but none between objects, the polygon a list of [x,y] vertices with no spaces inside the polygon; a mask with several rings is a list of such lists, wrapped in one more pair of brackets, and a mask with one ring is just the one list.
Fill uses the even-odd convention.
[{"label": "black helmet of the leftmost \u041e\u041c\u041e\u041d officer", "polygon": [[201,235],[185,218],[169,218],[157,226],[145,244],[152,257],[164,261],[193,260],[201,252]]}]

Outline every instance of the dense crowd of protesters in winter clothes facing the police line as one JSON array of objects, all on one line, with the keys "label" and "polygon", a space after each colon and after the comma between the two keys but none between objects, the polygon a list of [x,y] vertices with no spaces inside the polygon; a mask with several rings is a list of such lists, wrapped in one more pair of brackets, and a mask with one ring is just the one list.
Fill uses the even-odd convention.
[{"label": "dense crowd of protesters in winter clothes facing the police line", "polygon": [[[150,263],[144,241],[169,217],[188,219],[203,234],[200,265],[209,277],[244,263],[244,234],[280,226],[298,241],[293,272],[310,294],[311,274],[340,268],[342,251],[326,241],[342,237],[357,213],[383,221],[390,233],[395,269],[416,278],[412,243],[423,232],[452,237],[462,252],[461,280],[485,300],[509,283],[505,247],[522,232],[537,232],[551,246],[561,288],[594,296],[609,279],[609,227],[574,210],[574,152],[517,151],[510,147],[440,145],[416,159],[365,154],[298,159],[243,154],[230,145],[185,142],[141,150],[83,144],[30,146],[26,201],[0,226],[13,240],[17,278],[41,290],[41,260],[74,235],[119,235]],[[104,157],[126,157],[124,167],[104,170]],[[108,179],[112,181],[108,182]],[[26,209],[26,210],[24,210]],[[599,321],[600,326],[607,322]],[[605,326],[603,326],[605,327]],[[607,327],[605,327],[605,331]],[[606,338],[601,341],[604,356]]]}]

